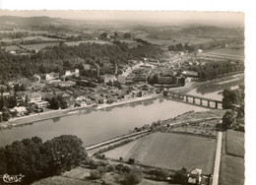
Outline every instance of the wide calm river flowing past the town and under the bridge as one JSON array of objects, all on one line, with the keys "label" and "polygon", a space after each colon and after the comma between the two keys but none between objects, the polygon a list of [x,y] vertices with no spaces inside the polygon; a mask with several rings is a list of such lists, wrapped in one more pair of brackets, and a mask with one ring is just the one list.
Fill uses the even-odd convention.
[{"label": "wide calm river flowing past the town and under the bridge", "polygon": [[[223,96],[219,92],[225,88],[237,88],[239,84],[242,82],[207,85],[188,93],[222,100]],[[126,134],[135,127],[175,117],[190,110],[204,111],[208,109],[165,98],[132,102],[0,131],[0,147],[33,136],[38,136],[46,141],[64,134],[77,135],[82,139],[84,145],[88,146]]]}]

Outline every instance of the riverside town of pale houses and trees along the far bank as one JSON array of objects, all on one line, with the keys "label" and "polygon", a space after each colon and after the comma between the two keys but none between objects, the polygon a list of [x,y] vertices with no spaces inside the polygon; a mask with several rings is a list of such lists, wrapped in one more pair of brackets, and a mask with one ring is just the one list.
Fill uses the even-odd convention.
[{"label": "riverside town of pale houses and trees along the far bank", "polygon": [[[217,47],[222,48],[221,45]],[[227,47],[227,43],[223,47]],[[206,66],[206,59],[197,56],[202,52],[202,49],[193,53],[188,50],[166,51],[164,58],[140,57],[139,60],[128,60],[122,66],[118,66],[116,62],[112,65],[109,61],[105,61],[102,67],[80,63],[78,68],[65,70],[63,73],[34,74],[31,78],[3,82],[0,87],[0,121],[52,109],[111,104],[184,87],[206,78],[198,70]],[[19,55],[13,50],[9,53]],[[66,65],[69,66],[69,63],[72,61],[68,61]],[[234,60],[229,62],[228,69],[230,68],[235,70],[227,73],[239,72],[243,70],[243,64]],[[90,73],[95,76],[92,77]],[[1,128],[5,127],[7,125],[1,125]]]}]

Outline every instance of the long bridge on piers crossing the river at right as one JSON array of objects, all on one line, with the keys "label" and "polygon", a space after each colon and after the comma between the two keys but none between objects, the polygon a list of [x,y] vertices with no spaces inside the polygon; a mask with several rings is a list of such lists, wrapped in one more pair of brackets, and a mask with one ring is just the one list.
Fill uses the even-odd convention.
[{"label": "long bridge on piers crossing the river at right", "polygon": [[[202,106],[202,107],[222,109],[218,105],[219,104],[223,105],[223,101],[221,101],[221,100],[216,100],[216,99],[192,95],[192,94],[177,93],[177,92],[163,92],[163,94],[165,96],[172,97],[173,99],[177,99],[177,100],[180,100],[183,102],[195,104],[195,105]],[[214,106],[211,106],[211,103],[214,103]]]}]

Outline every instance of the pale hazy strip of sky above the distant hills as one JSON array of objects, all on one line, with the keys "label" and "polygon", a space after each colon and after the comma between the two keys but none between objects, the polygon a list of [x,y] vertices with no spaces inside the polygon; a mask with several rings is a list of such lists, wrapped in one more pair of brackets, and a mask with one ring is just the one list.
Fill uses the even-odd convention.
[{"label": "pale hazy strip of sky above the distant hills", "polygon": [[52,18],[76,19],[76,20],[124,20],[124,21],[148,21],[148,22],[216,22],[222,25],[238,25],[244,23],[242,13],[230,12],[168,12],[168,11],[6,11],[0,10],[0,16],[48,16]]}]

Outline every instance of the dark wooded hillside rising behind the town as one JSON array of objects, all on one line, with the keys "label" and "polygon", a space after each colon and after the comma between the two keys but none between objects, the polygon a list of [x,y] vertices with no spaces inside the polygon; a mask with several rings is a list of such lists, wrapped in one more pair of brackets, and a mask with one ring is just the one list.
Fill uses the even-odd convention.
[{"label": "dark wooded hillside rising behind the town", "polygon": [[34,74],[48,72],[62,72],[69,68],[74,69],[81,63],[91,66],[101,65],[104,62],[115,62],[118,66],[127,64],[130,59],[140,57],[158,57],[162,53],[154,45],[138,45],[129,48],[127,44],[96,44],[81,43],[77,46],[58,45],[47,47],[31,55],[12,55],[0,50],[0,79],[12,79],[25,76],[31,78]]}]

